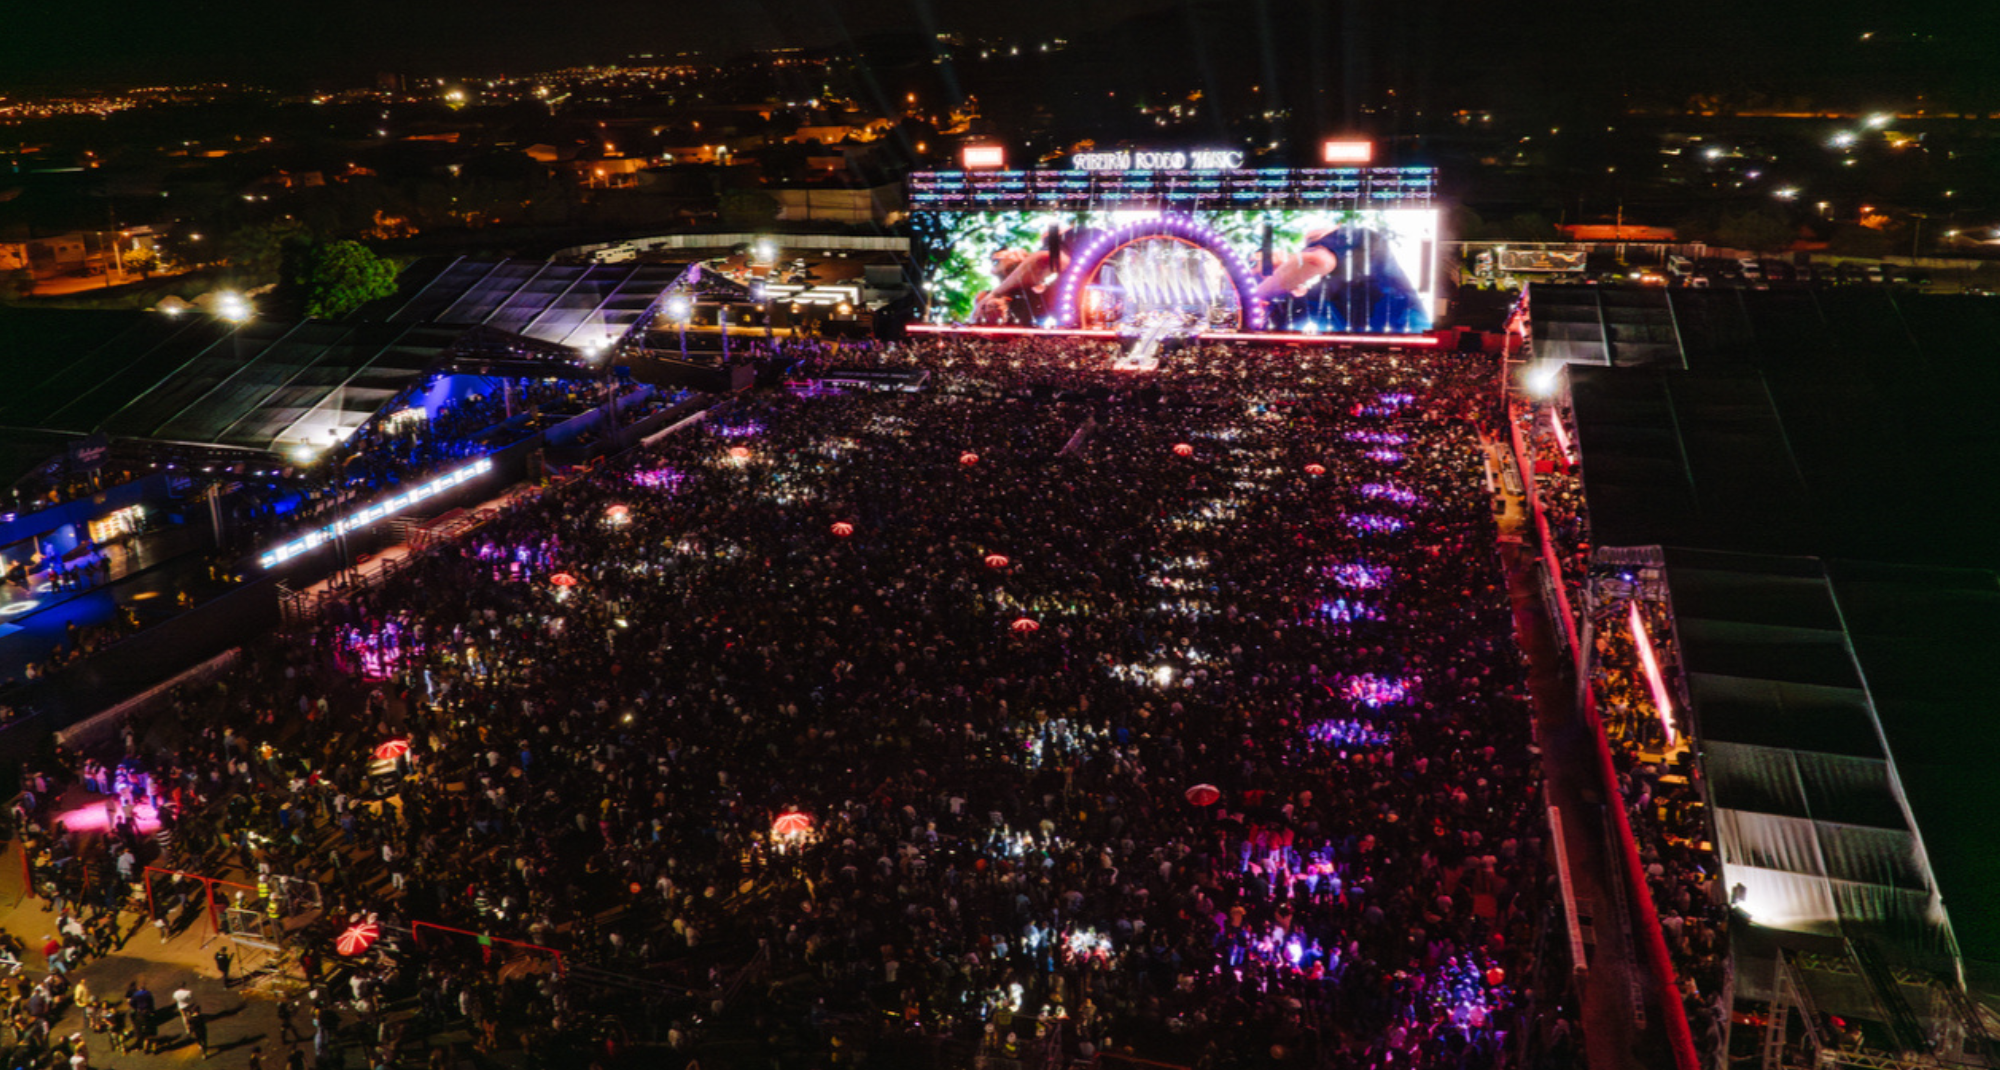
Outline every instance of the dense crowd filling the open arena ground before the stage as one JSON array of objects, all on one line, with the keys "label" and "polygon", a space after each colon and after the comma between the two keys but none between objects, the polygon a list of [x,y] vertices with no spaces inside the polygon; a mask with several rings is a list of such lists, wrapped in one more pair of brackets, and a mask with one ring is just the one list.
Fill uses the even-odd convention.
[{"label": "dense crowd filling the open arena ground before the stage", "polygon": [[166,836],[48,828],[84,862],[54,892],[114,894],[128,846],[294,924],[298,878],[308,940],[496,936],[308,956],[362,978],[318,990],[348,1022],[320,1050],[386,1064],[458,1020],[614,1050],[584,968],[698,994],[618,1036],[704,1066],[726,1036],[760,1066],[1570,1064],[1490,364],[1200,346],[1126,378],[954,340],[804,370],[842,362],[934,380],[742,398],[276,636],[128,732]]}]

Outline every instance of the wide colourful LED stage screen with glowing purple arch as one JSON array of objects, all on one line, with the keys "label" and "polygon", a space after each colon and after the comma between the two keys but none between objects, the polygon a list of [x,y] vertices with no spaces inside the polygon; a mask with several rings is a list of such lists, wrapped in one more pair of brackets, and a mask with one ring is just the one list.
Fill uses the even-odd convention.
[{"label": "wide colourful LED stage screen with glowing purple arch", "polygon": [[1434,208],[920,212],[928,318],[1086,330],[1414,334]]}]

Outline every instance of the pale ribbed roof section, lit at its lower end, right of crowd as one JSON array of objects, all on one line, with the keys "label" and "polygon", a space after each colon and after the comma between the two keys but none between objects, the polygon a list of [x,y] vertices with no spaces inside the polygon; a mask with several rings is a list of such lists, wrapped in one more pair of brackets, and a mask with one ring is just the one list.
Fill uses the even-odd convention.
[{"label": "pale ribbed roof section, lit at its lower end, right of crowd", "polygon": [[1760,926],[1954,970],[1944,900],[1822,564],[1668,550],[1666,580],[1732,902]]}]

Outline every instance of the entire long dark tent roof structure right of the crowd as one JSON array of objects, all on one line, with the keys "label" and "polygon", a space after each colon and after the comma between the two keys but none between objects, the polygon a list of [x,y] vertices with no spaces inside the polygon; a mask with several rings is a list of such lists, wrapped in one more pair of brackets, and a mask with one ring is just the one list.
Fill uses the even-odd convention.
[{"label": "entire long dark tent roof structure right of the crowd", "polygon": [[1594,576],[1664,588],[1736,996],[2000,1064],[2000,300],[1534,286],[1530,318]]}]

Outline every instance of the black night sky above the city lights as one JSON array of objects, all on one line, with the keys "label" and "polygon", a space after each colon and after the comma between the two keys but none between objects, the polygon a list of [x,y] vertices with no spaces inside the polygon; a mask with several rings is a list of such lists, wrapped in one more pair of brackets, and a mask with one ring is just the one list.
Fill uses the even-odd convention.
[{"label": "black night sky above the city lights", "polygon": [[[1202,12],[1182,18],[1182,8]],[[884,32],[1116,40],[1148,16],[1196,38],[1168,52],[1208,50],[1204,22],[1264,26],[1250,54],[1204,56],[1214,78],[1256,70],[1274,48],[1308,52],[1280,58],[1320,80],[1370,68],[1394,84],[1402,70],[1456,64],[1496,82],[1574,76],[1566,92],[1582,94],[1606,88],[1606,76],[1644,90],[1648,72],[1782,94],[1876,70],[1894,96],[1944,82],[1984,94],[2000,70],[2000,2],[1990,0],[14,0],[0,16],[0,92],[168,80],[342,88],[378,72],[532,72],[684,50],[726,58]],[[1866,30],[1876,38],[1860,46]]]}]

